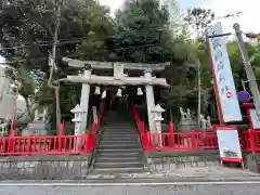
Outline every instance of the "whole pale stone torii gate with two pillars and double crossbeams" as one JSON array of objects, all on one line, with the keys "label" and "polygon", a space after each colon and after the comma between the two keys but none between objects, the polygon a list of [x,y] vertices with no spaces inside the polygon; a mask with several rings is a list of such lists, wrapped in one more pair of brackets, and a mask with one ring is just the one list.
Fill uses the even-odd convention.
[{"label": "whole pale stone torii gate with two pillars and double crossbeams", "polygon": [[[89,95],[90,84],[102,86],[145,86],[147,114],[151,132],[156,132],[155,121],[153,117],[153,108],[155,107],[154,89],[153,86],[168,87],[165,78],[156,78],[152,76],[154,72],[164,70],[170,63],[160,64],[140,64],[140,63],[110,63],[110,62],[95,62],[95,61],[79,61],[63,57],[63,62],[74,68],[83,68],[83,74],[78,76],[67,76],[66,81],[81,82],[81,99],[80,108],[83,109],[81,116],[82,123],[80,127],[80,134],[86,133],[88,108],[89,108]],[[96,76],[92,75],[92,69],[114,69],[114,76]],[[143,70],[142,77],[128,77],[123,75],[123,70]]]}]

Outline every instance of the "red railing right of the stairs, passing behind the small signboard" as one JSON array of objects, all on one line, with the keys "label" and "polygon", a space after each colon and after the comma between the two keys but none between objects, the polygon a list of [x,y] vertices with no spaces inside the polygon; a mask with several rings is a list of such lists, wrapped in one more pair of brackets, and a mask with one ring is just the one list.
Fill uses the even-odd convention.
[{"label": "red railing right of the stairs, passing behind the small signboard", "polygon": [[[218,150],[218,138],[216,131],[210,132],[174,132],[173,122],[169,122],[169,132],[151,133],[145,131],[145,125],[134,105],[130,105],[139,134],[146,152],[154,151],[178,151],[178,150]],[[250,151],[256,154],[260,151],[260,131],[247,130],[239,132],[242,151]]]}]

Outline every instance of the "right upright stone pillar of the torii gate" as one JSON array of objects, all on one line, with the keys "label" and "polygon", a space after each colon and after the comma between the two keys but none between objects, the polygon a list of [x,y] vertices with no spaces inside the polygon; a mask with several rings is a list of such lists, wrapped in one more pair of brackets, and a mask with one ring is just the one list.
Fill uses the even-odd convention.
[{"label": "right upright stone pillar of the torii gate", "polygon": [[[146,70],[144,77],[147,79],[152,79],[152,73]],[[152,84],[145,86],[146,92],[146,104],[147,104],[147,114],[148,114],[148,122],[150,122],[150,131],[152,133],[156,132],[154,116],[152,109],[155,107],[155,100],[154,100],[154,89]]]}]

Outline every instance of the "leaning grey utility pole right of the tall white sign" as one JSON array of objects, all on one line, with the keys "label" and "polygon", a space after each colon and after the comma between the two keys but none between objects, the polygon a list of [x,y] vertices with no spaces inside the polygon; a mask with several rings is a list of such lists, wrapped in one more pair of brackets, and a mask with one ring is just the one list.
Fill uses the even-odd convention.
[{"label": "leaning grey utility pole right of the tall white sign", "polygon": [[239,47],[239,51],[240,51],[240,55],[243,58],[243,63],[245,66],[245,70],[246,70],[246,75],[247,75],[247,79],[249,82],[249,87],[250,87],[250,91],[251,94],[253,96],[253,103],[257,109],[257,116],[258,118],[260,118],[260,94],[259,94],[259,90],[258,90],[258,84],[256,81],[256,77],[250,64],[250,60],[246,50],[246,46],[245,42],[243,40],[243,36],[242,36],[242,30],[240,30],[240,25],[238,23],[235,23],[233,28],[235,29],[235,34],[236,34],[236,38],[237,38],[237,43]]}]

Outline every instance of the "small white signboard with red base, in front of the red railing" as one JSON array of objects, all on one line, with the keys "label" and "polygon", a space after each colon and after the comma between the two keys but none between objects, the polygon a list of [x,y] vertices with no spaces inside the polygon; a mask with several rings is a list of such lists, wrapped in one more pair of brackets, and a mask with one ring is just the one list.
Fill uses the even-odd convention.
[{"label": "small white signboard with red base, in front of the red railing", "polygon": [[220,159],[222,161],[242,162],[242,152],[237,130],[218,129]]}]

